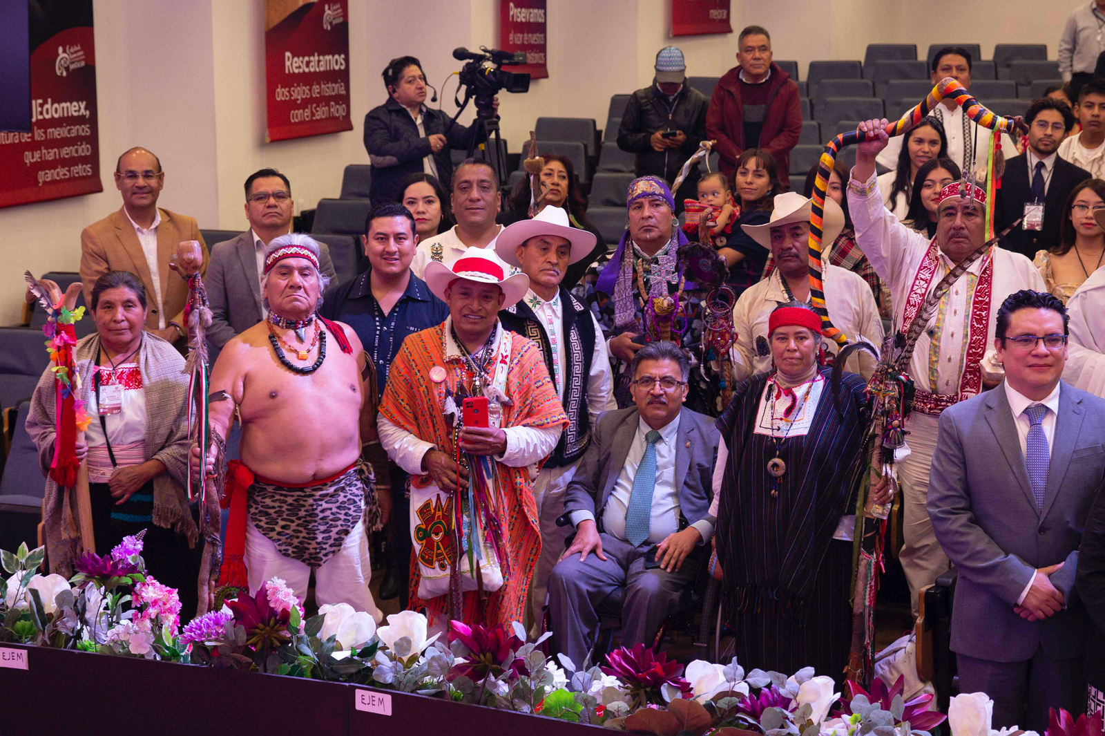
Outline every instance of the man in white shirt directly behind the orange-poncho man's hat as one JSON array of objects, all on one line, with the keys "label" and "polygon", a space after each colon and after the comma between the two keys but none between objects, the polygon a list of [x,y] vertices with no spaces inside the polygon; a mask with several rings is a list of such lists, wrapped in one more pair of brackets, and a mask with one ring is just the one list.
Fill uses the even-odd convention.
[{"label": "man in white shirt directly behind the orange-poncho man's hat", "polygon": [[503,230],[503,225],[495,222],[503,204],[498,183],[498,175],[487,161],[470,158],[456,167],[451,200],[456,224],[419,243],[411,261],[411,272],[415,276],[423,278],[425,264],[431,261],[452,265],[464,257],[470,248],[486,249],[491,257],[495,257],[495,238]]}]

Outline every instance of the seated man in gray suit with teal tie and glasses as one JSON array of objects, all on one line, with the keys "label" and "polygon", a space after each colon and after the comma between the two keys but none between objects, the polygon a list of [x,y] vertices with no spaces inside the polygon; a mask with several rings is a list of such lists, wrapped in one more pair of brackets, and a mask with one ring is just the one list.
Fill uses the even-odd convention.
[{"label": "seated man in gray suit with teal tie and glasses", "polygon": [[690,365],[674,343],[650,343],[630,366],[636,406],[599,416],[565,492],[576,538],[549,577],[560,651],[577,665],[601,612],[621,608],[622,644],[652,643],[698,575],[714,534],[714,420],[683,408]]}]

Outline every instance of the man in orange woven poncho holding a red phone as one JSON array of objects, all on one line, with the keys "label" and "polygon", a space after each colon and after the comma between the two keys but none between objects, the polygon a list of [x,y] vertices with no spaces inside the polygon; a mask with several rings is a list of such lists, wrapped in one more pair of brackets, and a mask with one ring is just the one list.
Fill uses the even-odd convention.
[{"label": "man in orange woven poncho holding a red phone", "polygon": [[528,276],[472,249],[427,264],[425,282],[449,317],[403,340],[379,418],[410,474],[410,608],[440,630],[450,618],[506,625],[522,620],[541,550],[534,479],[568,418],[538,347],[498,319]]}]

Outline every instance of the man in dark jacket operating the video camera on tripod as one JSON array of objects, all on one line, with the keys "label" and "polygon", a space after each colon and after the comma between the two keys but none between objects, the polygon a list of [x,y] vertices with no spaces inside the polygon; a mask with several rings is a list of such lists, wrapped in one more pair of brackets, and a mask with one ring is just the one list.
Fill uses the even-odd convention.
[{"label": "man in dark jacket operating the video camera on tripod", "polygon": [[[365,148],[372,164],[369,198],[375,203],[399,201],[402,182],[411,174],[438,177],[446,190],[453,176],[451,148],[467,149],[469,128],[449,126],[449,116],[425,106],[430,86],[414,56],[391,60],[383,70],[388,102],[365,116]],[[431,102],[438,99],[434,92]],[[493,103],[497,113],[498,102]]]}]

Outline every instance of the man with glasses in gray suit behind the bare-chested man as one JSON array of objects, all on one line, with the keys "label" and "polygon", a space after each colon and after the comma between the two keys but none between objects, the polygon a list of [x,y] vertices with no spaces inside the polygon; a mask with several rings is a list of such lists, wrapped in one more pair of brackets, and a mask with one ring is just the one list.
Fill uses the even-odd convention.
[{"label": "man with glasses in gray suit behind the bare-chested man", "polygon": [[[292,231],[293,209],[292,185],[276,169],[261,169],[245,179],[245,220],[250,229],[211,246],[211,265],[203,280],[211,301],[207,337],[212,366],[223,345],[265,318],[261,304],[265,246]],[[329,249],[322,242],[318,246],[319,270],[333,280]]]}]

